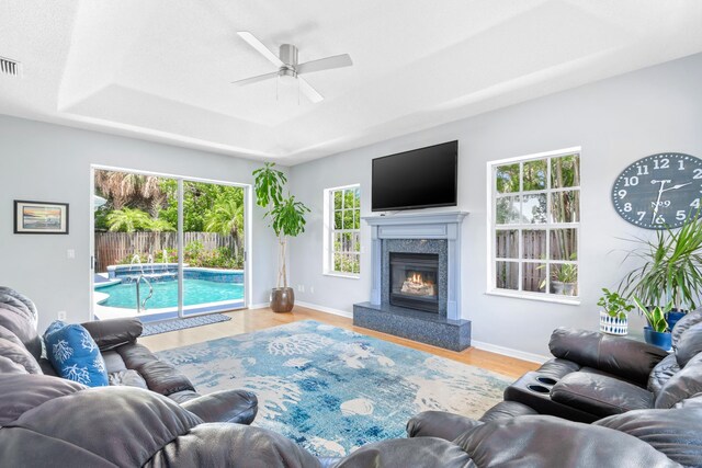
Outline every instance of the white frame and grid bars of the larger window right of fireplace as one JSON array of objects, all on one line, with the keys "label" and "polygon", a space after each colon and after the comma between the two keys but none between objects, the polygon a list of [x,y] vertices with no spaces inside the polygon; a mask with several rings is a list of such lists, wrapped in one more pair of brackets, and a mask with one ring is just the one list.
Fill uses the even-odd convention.
[{"label": "white frame and grid bars of the larger window right of fireplace", "polygon": [[[579,158],[579,165],[580,165],[580,181],[579,181],[579,185],[574,185],[570,187],[558,187],[558,189],[553,189],[551,187],[551,171],[552,171],[552,164],[551,161],[553,158],[558,158],[558,157],[564,157],[564,156],[570,156],[570,155],[578,155]],[[524,162],[529,162],[529,161],[534,161],[534,160],[546,160],[546,187],[544,190],[535,190],[535,191],[524,191],[523,189],[523,163]],[[520,170],[519,170],[519,191],[518,192],[513,192],[513,193],[509,193],[509,194],[498,194],[497,193],[497,183],[496,183],[496,173],[497,173],[497,168],[501,167],[501,165],[509,165],[509,164],[514,164],[514,163],[519,163],[520,164]],[[580,298],[582,297],[584,293],[581,289],[581,285],[582,285],[582,281],[581,281],[581,271],[580,271],[580,259],[581,259],[581,224],[582,224],[582,150],[581,147],[573,147],[573,148],[564,148],[564,149],[558,149],[558,150],[554,150],[554,151],[544,151],[544,152],[539,152],[539,153],[532,153],[532,155],[524,155],[524,156],[519,156],[519,157],[514,157],[514,158],[507,158],[507,159],[500,159],[500,160],[494,160],[494,161],[488,161],[487,162],[487,290],[486,294],[489,295],[496,295],[496,296],[507,296],[507,297],[514,297],[514,298],[521,298],[521,299],[530,299],[530,300],[540,300],[540,301],[546,301],[546,303],[559,303],[559,304],[567,304],[567,305],[579,305],[580,304]],[[508,196],[520,196],[520,203],[521,203],[521,197],[524,195],[535,195],[535,194],[546,194],[546,216],[548,216],[548,214],[551,213],[551,208],[552,208],[552,197],[551,194],[553,193],[558,193],[558,192],[568,192],[568,191],[574,191],[577,190],[579,192],[579,198],[578,198],[578,221],[577,222],[550,222],[548,218],[546,218],[546,222],[543,224],[524,224],[524,222],[519,222],[519,224],[506,224],[506,225],[498,225],[497,224],[497,199],[498,198],[502,198],[502,197],[508,197]],[[521,210],[520,210],[521,212]],[[554,229],[575,229],[575,237],[576,237],[576,252],[577,252],[577,259],[569,261],[569,260],[552,260],[550,258],[547,259],[524,259],[523,258],[523,238],[522,238],[522,232],[524,230],[545,230],[546,231],[546,236],[545,236],[545,241],[546,241],[546,247],[545,247],[545,252],[550,252],[551,251],[551,232]],[[496,233],[498,232],[498,230],[516,230],[518,231],[518,237],[519,237],[519,244],[518,244],[518,252],[517,252],[517,258],[497,258],[497,236]],[[497,272],[497,262],[498,261],[508,261],[508,262],[516,262],[518,264],[518,287],[519,289],[505,289],[505,288],[498,288],[497,287],[497,278],[496,278],[496,272]],[[546,283],[546,290],[544,293],[539,293],[539,292],[529,292],[529,290],[523,290],[523,265],[526,263],[540,263],[540,264],[546,264],[546,278],[547,278],[547,283]],[[552,265],[558,265],[558,264],[574,264],[577,267],[577,281],[576,281],[576,290],[577,290],[577,296],[565,296],[565,295],[561,295],[561,294],[555,294],[555,293],[551,293],[551,269]]]}]

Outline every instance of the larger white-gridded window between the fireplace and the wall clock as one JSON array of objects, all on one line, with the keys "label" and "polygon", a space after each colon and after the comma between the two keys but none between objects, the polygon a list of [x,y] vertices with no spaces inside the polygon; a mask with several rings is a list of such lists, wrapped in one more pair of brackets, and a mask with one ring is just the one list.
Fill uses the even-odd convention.
[{"label": "larger white-gridded window between the fireplace and the wall clock", "polygon": [[495,292],[578,296],[579,148],[488,163]]}]

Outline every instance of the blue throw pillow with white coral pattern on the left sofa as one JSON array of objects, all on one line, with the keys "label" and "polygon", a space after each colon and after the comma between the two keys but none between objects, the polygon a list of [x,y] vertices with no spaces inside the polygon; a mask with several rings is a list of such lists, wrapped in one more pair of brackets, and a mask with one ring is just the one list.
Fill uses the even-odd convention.
[{"label": "blue throw pillow with white coral pattern on the left sofa", "polygon": [[57,320],[46,329],[44,343],[52,366],[61,377],[89,387],[110,384],[102,354],[83,326]]}]

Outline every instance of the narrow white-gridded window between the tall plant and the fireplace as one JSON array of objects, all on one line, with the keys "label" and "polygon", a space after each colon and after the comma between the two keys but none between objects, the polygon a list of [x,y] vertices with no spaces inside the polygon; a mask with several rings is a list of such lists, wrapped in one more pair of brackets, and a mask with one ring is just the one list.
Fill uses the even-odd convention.
[{"label": "narrow white-gridded window between the tall plant and the fireplace", "polygon": [[325,190],[325,273],[361,273],[361,189],[348,185]]}]

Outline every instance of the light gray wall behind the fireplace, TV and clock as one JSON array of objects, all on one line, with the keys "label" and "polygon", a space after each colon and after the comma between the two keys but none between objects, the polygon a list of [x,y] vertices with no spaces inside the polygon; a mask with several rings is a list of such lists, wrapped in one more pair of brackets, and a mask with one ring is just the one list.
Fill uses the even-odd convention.
[{"label": "light gray wall behind the fireplace, TV and clock", "polygon": [[[702,55],[697,55],[293,167],[293,193],[313,208],[307,232],[291,247],[293,284],[305,286],[297,299],[351,311],[353,303],[370,298],[365,225],[361,278],[322,275],[325,187],[360,183],[362,215],[369,216],[372,158],[458,139],[458,209],[471,213],[463,226],[463,317],[473,321],[474,340],[546,355],[554,328],[598,327],[600,288],[615,286],[625,271],[616,249],[626,244],[618,238],[647,235],[612,208],[614,178],[631,162],[655,152],[702,157],[700,83]],[[486,162],[574,146],[582,147],[581,304],[486,295]],[[634,322],[634,328],[642,323]]]}]

